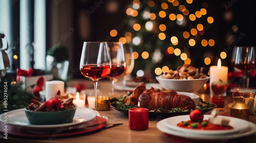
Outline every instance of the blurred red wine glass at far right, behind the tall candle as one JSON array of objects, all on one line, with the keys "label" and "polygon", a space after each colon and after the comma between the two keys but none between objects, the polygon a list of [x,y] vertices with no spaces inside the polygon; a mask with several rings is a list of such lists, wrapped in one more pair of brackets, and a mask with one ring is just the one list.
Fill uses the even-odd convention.
[{"label": "blurred red wine glass at far right, behind the tall candle", "polygon": [[248,70],[253,70],[255,67],[256,56],[255,48],[253,46],[236,46],[233,49],[231,65],[244,72],[242,87],[248,88],[249,86],[249,75]]}]

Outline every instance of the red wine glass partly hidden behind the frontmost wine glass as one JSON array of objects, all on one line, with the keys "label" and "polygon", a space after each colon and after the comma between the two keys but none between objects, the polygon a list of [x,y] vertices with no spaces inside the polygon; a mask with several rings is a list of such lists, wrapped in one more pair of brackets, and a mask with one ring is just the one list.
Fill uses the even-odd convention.
[{"label": "red wine glass partly hidden behind the frontmost wine glass", "polygon": [[108,42],[111,59],[111,73],[107,76],[111,81],[111,98],[114,96],[114,78],[121,76],[126,70],[124,48],[122,42]]}]

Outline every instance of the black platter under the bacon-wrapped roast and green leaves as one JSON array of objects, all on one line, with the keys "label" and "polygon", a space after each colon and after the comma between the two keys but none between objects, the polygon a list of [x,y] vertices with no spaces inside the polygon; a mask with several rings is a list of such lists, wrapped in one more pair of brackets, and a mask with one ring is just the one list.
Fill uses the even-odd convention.
[{"label": "black platter under the bacon-wrapped roast and green leaves", "polygon": [[[212,104],[214,104],[214,103],[212,103]],[[126,115],[126,116],[128,116],[128,114],[129,114],[129,110],[117,108],[115,106],[115,104],[111,104],[110,106],[112,108],[114,108],[115,110],[121,112],[122,114]],[[203,113],[206,113],[206,112],[209,112],[209,111],[213,110],[216,107],[217,107],[217,105],[213,108],[209,108],[209,109],[205,109],[205,110],[201,110],[201,111]],[[156,118],[156,119],[163,119],[163,118],[168,118],[168,117],[173,117],[173,116],[189,115],[189,114],[190,114],[190,112],[148,112],[148,117],[149,118]]]}]

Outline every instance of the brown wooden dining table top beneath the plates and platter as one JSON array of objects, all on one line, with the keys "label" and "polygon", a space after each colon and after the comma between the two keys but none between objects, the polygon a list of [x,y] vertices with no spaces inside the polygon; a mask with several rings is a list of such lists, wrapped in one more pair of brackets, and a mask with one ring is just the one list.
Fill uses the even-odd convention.
[{"label": "brown wooden dining table top beneath the plates and platter", "polygon": [[[99,84],[100,85],[100,84]],[[100,86],[98,86],[100,87]],[[210,101],[210,96],[207,93],[195,93],[200,96],[204,101]],[[227,100],[231,97],[226,97]],[[231,101],[225,101],[225,106]],[[128,116],[122,115],[122,113],[111,109],[109,111],[99,111],[103,116],[107,116],[109,120],[107,125],[123,123],[123,125],[112,127],[106,130],[98,130],[87,134],[73,135],[67,137],[57,137],[51,142],[75,142],[75,143],[84,143],[84,142],[104,142],[104,143],[136,143],[136,142],[173,142],[170,140],[163,132],[159,131],[156,127],[157,120],[149,119],[148,130],[136,131],[130,130],[128,126]],[[223,115],[230,115],[230,108],[227,108],[227,112]],[[256,115],[250,115],[249,121],[256,123]],[[3,134],[0,135],[1,140],[3,139]],[[246,142],[252,143],[256,140],[256,134],[239,138],[235,140],[229,140],[227,142]],[[8,135],[8,140],[4,139],[2,142],[50,142],[48,138],[24,138],[24,137],[14,137]],[[209,141],[207,141],[209,142]],[[222,142],[220,140],[219,142]]]}]

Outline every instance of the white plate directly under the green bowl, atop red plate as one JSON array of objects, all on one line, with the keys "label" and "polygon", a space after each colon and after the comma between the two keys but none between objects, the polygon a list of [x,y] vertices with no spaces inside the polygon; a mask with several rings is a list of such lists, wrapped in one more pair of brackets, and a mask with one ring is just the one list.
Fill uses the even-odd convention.
[{"label": "white plate directly under the green bowl, atop red plate", "polygon": [[[72,123],[67,124],[55,124],[55,125],[31,125],[27,119],[27,116],[25,114],[25,109],[18,109],[9,111],[8,113],[8,124],[10,125],[16,125],[18,128],[24,128],[24,129],[31,129],[31,130],[50,130],[53,128],[59,128],[62,126],[73,126],[82,124],[84,122],[90,121],[94,119],[97,116],[96,111],[89,109],[89,108],[83,108],[83,107],[77,107],[76,113],[73,118]],[[0,121],[4,122],[5,116],[4,114],[0,115]]]}]

